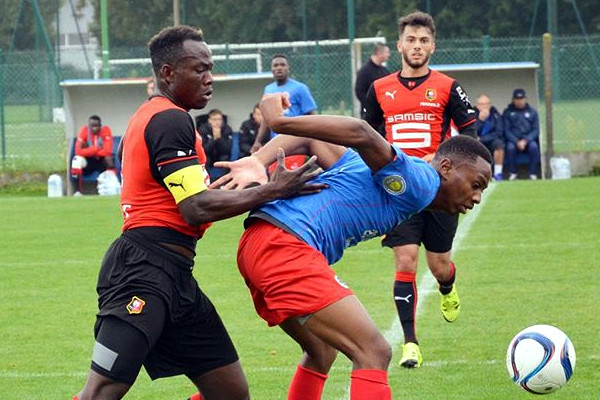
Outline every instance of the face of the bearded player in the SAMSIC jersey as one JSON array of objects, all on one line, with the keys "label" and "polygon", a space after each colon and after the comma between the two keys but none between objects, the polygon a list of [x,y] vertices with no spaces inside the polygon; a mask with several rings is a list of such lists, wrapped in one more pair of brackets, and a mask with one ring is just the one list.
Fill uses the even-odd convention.
[{"label": "face of the bearded player in the SAMSIC jersey", "polygon": [[402,60],[411,68],[421,68],[429,64],[429,56],[435,51],[433,36],[424,26],[406,26],[398,41],[398,51]]}]

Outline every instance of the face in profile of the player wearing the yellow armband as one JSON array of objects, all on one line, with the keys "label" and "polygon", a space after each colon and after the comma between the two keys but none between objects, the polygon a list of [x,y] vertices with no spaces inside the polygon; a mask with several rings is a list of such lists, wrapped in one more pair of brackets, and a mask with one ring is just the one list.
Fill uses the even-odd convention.
[{"label": "face in profile of the player wearing the yellow armband", "polygon": [[185,109],[201,109],[212,97],[212,55],[204,42],[186,40],[183,57],[166,72],[172,100]]}]

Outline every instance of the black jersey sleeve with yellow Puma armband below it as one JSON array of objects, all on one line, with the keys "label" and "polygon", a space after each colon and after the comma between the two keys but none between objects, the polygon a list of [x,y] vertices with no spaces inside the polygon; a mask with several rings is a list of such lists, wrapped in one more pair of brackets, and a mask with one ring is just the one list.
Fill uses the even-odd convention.
[{"label": "black jersey sleeve with yellow Puma armband below it", "polygon": [[188,113],[171,109],[156,114],[148,123],[145,139],[154,178],[176,203],[207,189]]}]

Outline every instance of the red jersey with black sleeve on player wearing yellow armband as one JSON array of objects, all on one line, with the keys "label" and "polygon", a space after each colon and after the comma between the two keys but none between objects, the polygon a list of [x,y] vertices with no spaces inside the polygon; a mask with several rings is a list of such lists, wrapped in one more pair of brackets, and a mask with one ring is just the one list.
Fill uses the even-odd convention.
[{"label": "red jersey with black sleeve on player wearing yellow armband", "polygon": [[[155,96],[133,114],[123,139],[121,210],[123,231],[165,227],[194,239],[210,226],[188,225],[164,178],[204,163],[202,139],[191,116],[171,100]],[[208,174],[204,170],[206,185]]]}]

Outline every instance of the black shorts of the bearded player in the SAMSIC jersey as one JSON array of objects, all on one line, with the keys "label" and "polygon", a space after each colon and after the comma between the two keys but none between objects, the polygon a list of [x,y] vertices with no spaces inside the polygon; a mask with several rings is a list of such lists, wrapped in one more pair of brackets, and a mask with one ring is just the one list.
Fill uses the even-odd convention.
[{"label": "black shorts of the bearded player in the SAMSIC jersey", "polygon": [[452,241],[458,227],[458,214],[443,211],[421,211],[388,232],[381,245],[397,247],[423,243],[427,251],[446,253],[452,249]]}]

